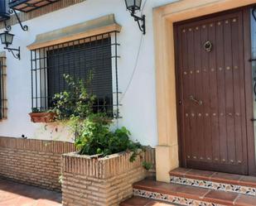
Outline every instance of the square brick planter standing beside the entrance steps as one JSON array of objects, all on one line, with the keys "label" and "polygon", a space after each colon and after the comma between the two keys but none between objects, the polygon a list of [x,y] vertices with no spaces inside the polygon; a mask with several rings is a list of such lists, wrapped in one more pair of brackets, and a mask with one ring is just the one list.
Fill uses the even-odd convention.
[{"label": "square brick planter standing beside the entrance steps", "polygon": [[114,206],[132,196],[132,184],[144,179],[147,172],[142,168],[145,158],[131,163],[130,156],[125,152],[99,159],[63,155],[62,204]]}]

